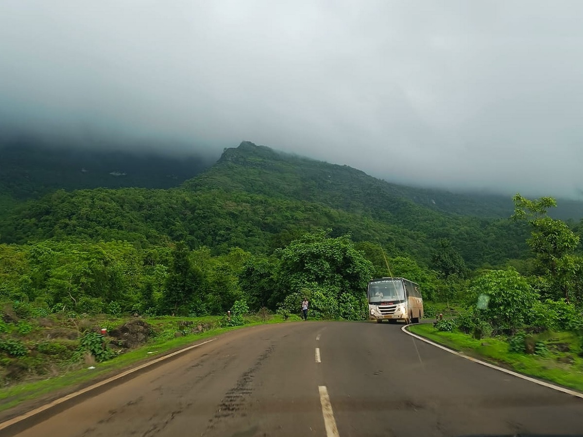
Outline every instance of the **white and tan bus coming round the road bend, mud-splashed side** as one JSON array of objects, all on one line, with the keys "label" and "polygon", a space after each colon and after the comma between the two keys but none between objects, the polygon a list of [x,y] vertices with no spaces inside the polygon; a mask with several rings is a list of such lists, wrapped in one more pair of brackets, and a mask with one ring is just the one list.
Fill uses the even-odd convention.
[{"label": "white and tan bus coming round the road bend, mud-splashed side", "polygon": [[419,284],[405,278],[379,278],[368,281],[368,313],[371,320],[404,320],[419,323],[423,318],[423,297]]}]

